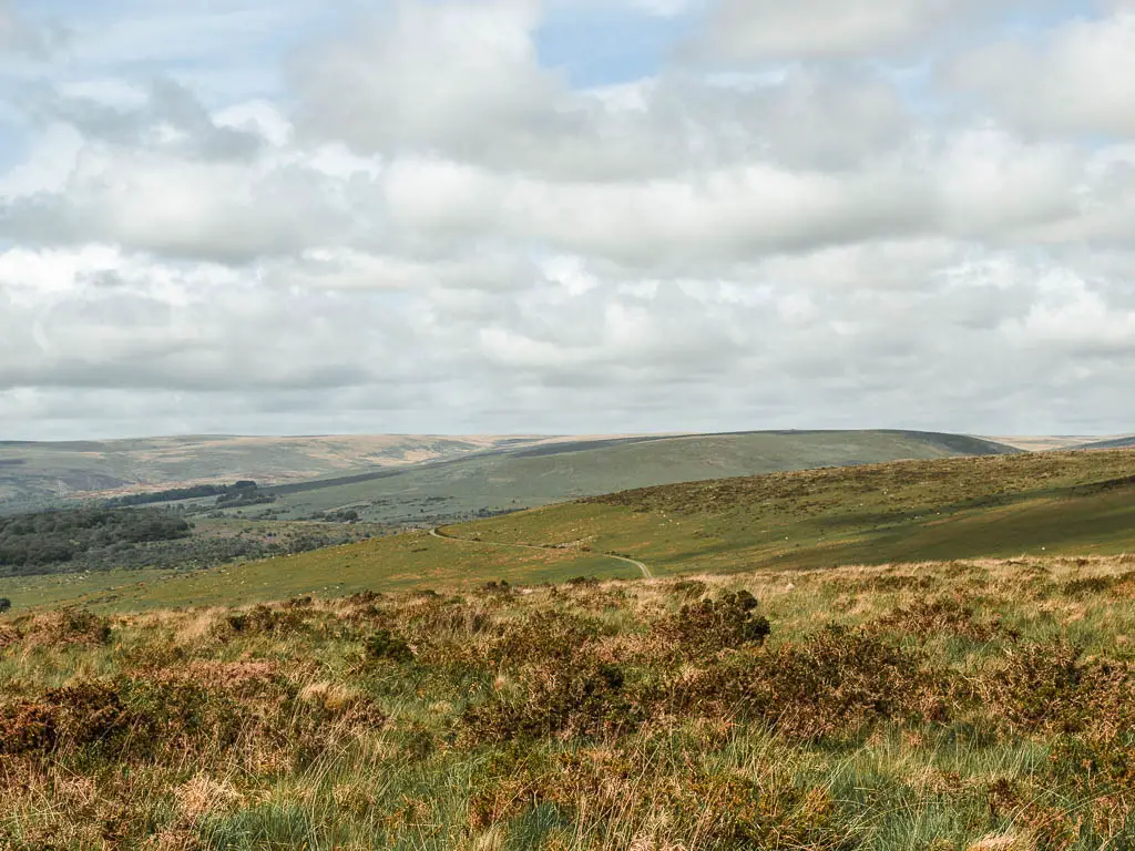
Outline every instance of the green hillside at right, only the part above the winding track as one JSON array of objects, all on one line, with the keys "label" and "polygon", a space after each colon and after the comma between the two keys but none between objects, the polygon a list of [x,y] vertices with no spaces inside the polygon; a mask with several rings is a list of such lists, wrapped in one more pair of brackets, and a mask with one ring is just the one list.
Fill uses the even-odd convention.
[{"label": "green hillside at right, only the part above the winding track", "polygon": [[[1052,453],[650,488],[468,526],[656,572],[1135,550],[1135,453]],[[1110,482],[1110,485],[1107,485]]]}]

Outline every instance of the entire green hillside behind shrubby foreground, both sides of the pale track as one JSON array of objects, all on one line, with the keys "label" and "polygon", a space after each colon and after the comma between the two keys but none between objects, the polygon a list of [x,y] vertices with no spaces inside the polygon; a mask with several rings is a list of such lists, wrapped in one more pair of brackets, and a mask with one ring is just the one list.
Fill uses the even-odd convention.
[{"label": "entire green hillside behind shrubby foreground, both sides of the pale track", "polygon": [[[625,553],[656,574],[831,567],[1039,554],[1135,551],[1135,453],[947,458],[650,488],[451,528],[494,549],[414,533],[150,582],[0,582],[17,606],[68,590],[120,610],[243,603],[310,591],[471,585],[490,580],[633,576],[602,557]],[[587,549],[586,549],[587,548]],[[102,591],[103,585],[115,585]],[[81,595],[75,593],[75,597]]]}]

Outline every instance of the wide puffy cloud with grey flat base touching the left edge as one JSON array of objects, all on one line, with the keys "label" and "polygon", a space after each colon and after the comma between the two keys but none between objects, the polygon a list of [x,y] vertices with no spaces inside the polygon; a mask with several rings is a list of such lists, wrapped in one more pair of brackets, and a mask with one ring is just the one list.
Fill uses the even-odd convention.
[{"label": "wide puffy cloud with grey flat base touching the left edge", "polygon": [[169,81],[128,106],[45,85],[25,102],[33,95],[42,141],[0,178],[0,236],[241,264],[350,239],[365,226],[352,210],[352,180],[370,179],[365,165],[335,149],[284,148],[291,125],[271,109],[215,115]]}]

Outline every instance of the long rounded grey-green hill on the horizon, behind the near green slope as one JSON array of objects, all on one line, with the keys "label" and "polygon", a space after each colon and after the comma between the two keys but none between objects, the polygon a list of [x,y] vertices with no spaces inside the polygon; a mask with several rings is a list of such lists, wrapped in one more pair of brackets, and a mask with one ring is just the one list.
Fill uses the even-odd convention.
[{"label": "long rounded grey-green hill on the horizon, behind the near green slope", "polygon": [[293,517],[350,506],[379,522],[452,519],[480,508],[535,507],[650,485],[1007,450],[964,436],[907,431],[750,432],[614,445],[598,441],[479,455],[300,492],[284,489],[276,507],[287,509],[286,516]]}]

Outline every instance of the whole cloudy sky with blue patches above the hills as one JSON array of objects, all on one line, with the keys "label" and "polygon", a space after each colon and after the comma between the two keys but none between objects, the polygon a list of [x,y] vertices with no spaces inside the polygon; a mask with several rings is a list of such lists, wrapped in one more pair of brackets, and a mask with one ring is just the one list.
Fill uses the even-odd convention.
[{"label": "whole cloudy sky with blue patches above the hills", "polygon": [[1133,387],[1135,0],[0,0],[0,439]]}]

